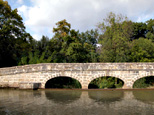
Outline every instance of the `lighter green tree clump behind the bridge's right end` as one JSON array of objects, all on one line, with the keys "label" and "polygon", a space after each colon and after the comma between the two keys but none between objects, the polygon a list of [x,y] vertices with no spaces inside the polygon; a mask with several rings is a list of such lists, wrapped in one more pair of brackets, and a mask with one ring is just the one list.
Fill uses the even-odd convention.
[{"label": "lighter green tree clump behind the bridge's right end", "polygon": [[100,62],[153,62],[153,23],[152,19],[146,23],[132,22],[110,13],[98,25]]}]

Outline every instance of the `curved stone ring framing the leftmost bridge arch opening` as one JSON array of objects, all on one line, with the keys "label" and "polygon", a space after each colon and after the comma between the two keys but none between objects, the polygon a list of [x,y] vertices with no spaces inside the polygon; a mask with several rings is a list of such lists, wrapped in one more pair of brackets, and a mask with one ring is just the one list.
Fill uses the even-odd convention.
[{"label": "curved stone ring framing the leftmost bridge arch opening", "polygon": [[57,73],[57,74],[48,74],[48,76],[45,78],[45,80],[42,82],[42,88],[45,88],[45,84],[47,83],[47,81],[53,79],[53,78],[57,78],[57,77],[68,77],[68,78],[72,78],[77,80],[80,84],[81,84],[81,88],[83,87],[82,85],[82,80],[80,79],[80,77],[76,74],[61,74],[61,73]]}]

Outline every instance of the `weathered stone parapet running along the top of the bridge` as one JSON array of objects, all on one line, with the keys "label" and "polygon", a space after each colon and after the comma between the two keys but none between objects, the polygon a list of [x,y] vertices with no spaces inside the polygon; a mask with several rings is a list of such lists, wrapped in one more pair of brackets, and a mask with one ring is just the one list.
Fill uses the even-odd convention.
[{"label": "weathered stone parapet running along the top of the bridge", "polygon": [[0,68],[0,76],[44,71],[151,71],[154,63],[42,63]]}]

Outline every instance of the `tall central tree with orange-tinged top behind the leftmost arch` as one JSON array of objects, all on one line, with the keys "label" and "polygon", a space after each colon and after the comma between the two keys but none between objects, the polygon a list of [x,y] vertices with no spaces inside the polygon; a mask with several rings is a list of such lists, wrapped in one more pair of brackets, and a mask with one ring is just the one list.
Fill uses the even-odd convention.
[{"label": "tall central tree with orange-tinged top behind the leftmost arch", "polygon": [[55,35],[50,41],[50,49],[53,52],[53,62],[67,62],[66,49],[69,46],[69,41],[71,41],[71,24],[64,19],[57,22],[56,25],[57,27],[53,28]]}]

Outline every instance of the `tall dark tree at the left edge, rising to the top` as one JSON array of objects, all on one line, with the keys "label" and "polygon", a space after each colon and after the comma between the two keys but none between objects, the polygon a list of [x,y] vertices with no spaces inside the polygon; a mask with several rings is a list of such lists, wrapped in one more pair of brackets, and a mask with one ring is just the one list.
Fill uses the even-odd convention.
[{"label": "tall dark tree at the left edge, rising to the top", "polygon": [[0,67],[17,65],[22,55],[31,50],[32,37],[25,32],[17,9],[0,0]]}]

